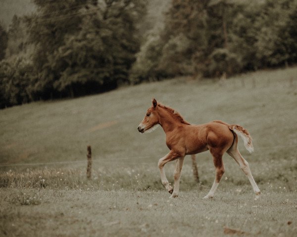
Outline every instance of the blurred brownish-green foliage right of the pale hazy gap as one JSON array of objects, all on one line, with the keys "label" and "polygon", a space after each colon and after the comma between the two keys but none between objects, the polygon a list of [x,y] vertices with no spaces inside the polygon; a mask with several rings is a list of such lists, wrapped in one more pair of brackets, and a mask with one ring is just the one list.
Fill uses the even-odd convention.
[{"label": "blurred brownish-green foliage right of the pale hazy gap", "polygon": [[164,30],[148,36],[131,80],[220,77],[295,64],[296,25],[297,0],[172,0]]}]

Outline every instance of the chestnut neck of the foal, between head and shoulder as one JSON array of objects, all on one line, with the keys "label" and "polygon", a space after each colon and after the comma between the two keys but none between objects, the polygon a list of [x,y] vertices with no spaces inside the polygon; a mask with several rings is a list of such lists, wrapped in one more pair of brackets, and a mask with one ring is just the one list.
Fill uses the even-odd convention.
[{"label": "chestnut neck of the foal, between head and shoulder", "polygon": [[165,133],[173,131],[178,126],[182,125],[178,119],[174,117],[174,115],[167,111],[164,108],[158,108],[159,109],[159,123],[162,126]]}]

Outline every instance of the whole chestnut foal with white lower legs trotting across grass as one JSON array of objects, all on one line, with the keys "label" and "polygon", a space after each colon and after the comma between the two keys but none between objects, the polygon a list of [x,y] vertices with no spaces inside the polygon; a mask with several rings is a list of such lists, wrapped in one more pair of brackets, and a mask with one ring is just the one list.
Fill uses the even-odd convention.
[{"label": "whole chestnut foal with white lower legs trotting across grass", "polygon": [[[255,183],[247,161],[240,154],[237,143],[238,135],[242,137],[247,151],[253,152],[251,137],[248,131],[240,125],[230,125],[226,122],[215,120],[200,125],[192,125],[185,121],[179,113],[173,109],[152,100],[152,106],[148,108],[145,118],[138,126],[141,133],[153,131],[157,125],[161,125],[166,134],[166,145],[170,152],[159,159],[158,166],[162,184],[171,194],[178,197],[181,170],[186,155],[193,155],[209,150],[215,167],[215,179],[209,193],[203,198],[214,197],[215,191],[225,172],[222,156],[227,152],[239,164],[252,186],[256,198],[260,190]],[[169,185],[165,176],[164,165],[172,160],[175,162],[174,190]]]}]

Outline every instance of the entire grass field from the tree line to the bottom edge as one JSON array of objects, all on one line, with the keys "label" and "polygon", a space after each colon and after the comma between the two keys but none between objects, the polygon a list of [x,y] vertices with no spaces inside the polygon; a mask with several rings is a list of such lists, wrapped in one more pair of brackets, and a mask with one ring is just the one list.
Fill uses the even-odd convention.
[{"label": "entire grass field from the tree line to the bottom edge", "polygon": [[[0,236],[295,236],[297,68],[228,79],[171,79],[73,100],[0,111]],[[169,200],[157,168],[168,153],[161,128],[137,126],[151,97],[191,123],[221,119],[249,130],[240,150],[262,192],[224,156],[212,200],[208,152],[198,155],[201,187],[186,158],[180,197]],[[92,180],[86,148],[92,146]],[[173,182],[173,165],[165,166]]]}]

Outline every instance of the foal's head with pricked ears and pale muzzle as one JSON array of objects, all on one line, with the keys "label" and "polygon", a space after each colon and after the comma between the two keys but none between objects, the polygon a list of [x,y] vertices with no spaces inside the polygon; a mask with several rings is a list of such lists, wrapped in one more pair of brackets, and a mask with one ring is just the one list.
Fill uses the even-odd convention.
[{"label": "foal's head with pricked ears and pale muzzle", "polygon": [[156,112],[157,110],[157,101],[152,99],[152,106],[148,108],[145,118],[138,126],[138,131],[141,133],[152,132],[155,130],[159,124],[159,116]]}]

